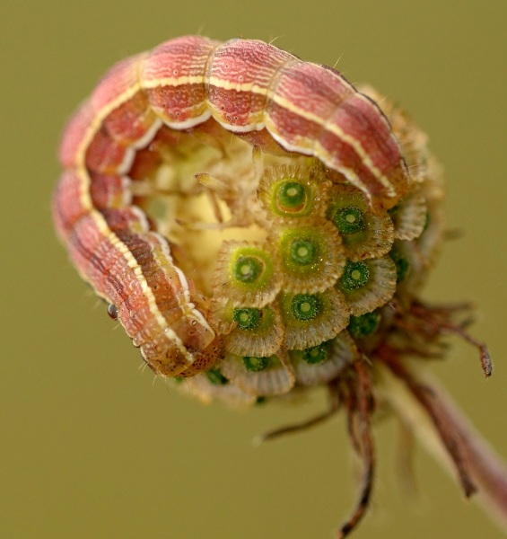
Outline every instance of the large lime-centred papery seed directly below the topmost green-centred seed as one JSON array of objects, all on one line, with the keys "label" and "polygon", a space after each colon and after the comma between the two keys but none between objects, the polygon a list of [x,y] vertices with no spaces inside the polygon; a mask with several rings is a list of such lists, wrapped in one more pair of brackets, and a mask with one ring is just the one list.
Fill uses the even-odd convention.
[{"label": "large lime-centred papery seed directly below the topmost green-centred seed", "polygon": [[337,229],[325,219],[288,222],[277,228],[282,288],[313,294],[332,287],[345,265],[345,252]]}]

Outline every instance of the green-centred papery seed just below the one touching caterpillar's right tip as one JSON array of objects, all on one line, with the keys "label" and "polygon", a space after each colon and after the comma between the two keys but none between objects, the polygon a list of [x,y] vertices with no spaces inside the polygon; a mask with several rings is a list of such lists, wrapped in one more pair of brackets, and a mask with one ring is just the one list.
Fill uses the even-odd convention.
[{"label": "green-centred papery seed just below the one touching caterpillar's right tip", "polygon": [[384,256],[361,262],[348,261],[337,287],[354,316],[370,313],[386,304],[396,291],[397,267]]}]

